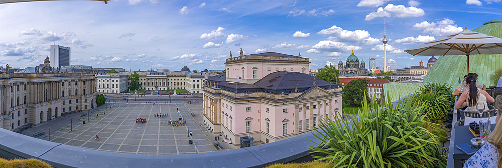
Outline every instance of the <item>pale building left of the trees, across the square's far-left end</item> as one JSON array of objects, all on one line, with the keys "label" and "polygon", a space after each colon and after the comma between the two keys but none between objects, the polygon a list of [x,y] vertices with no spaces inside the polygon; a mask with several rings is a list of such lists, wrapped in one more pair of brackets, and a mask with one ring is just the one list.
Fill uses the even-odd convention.
[{"label": "pale building left of the trees, across the square's far-left end", "polygon": [[129,89],[129,76],[124,73],[96,74],[96,90],[98,93],[121,93]]}]

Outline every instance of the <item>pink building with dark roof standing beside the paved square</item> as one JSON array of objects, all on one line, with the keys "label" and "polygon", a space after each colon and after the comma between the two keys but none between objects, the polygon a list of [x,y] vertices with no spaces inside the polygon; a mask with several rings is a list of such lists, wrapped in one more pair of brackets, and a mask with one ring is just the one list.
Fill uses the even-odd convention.
[{"label": "pink building with dark roof standing beside the paved square", "polygon": [[248,135],[269,143],[340,117],[341,88],[308,75],[309,63],[274,52],[226,59],[226,73],[204,83],[204,122],[234,144]]}]

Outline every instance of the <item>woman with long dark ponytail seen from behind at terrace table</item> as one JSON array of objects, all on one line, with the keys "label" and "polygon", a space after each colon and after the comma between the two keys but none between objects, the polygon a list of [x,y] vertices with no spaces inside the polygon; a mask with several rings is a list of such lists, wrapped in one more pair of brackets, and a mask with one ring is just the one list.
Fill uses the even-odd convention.
[{"label": "woman with long dark ponytail seen from behind at terrace table", "polygon": [[460,98],[458,98],[455,104],[455,109],[460,109],[462,107],[468,106],[467,111],[477,111],[476,104],[484,103],[484,109],[488,109],[488,104],[486,101],[493,103],[495,99],[491,97],[488,92],[481,90],[476,87],[476,79],[473,76],[467,77],[465,80],[467,83],[468,90],[464,91]]}]

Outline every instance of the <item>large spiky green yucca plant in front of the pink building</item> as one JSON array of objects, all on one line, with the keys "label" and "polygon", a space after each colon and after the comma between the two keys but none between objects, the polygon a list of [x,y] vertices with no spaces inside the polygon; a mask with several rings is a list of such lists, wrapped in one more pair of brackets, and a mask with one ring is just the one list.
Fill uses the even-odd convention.
[{"label": "large spiky green yucca plant in front of the pink building", "polygon": [[441,144],[424,128],[424,106],[410,99],[395,107],[363,102],[357,117],[321,121],[313,133],[321,143],[310,148],[326,155],[313,157],[333,167],[446,167]]}]

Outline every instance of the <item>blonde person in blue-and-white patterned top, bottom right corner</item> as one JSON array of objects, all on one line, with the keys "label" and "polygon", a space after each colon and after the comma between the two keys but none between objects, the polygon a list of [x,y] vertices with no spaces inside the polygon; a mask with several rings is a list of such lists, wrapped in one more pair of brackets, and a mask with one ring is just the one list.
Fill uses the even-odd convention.
[{"label": "blonde person in blue-and-white patterned top, bottom right corner", "polygon": [[502,152],[502,124],[498,124],[502,122],[499,117],[501,112],[497,112],[498,114],[495,118],[495,123],[497,124],[488,137],[486,137],[487,142],[465,161],[465,168],[502,167],[502,155],[498,154]]}]

